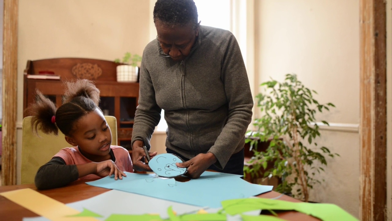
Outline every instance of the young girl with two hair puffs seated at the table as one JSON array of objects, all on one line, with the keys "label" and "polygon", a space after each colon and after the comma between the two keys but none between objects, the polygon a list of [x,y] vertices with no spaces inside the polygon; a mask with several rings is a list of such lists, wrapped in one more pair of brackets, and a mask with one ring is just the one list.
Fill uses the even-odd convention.
[{"label": "young girl with two hair puffs seated at the table", "polygon": [[65,135],[73,147],[61,149],[38,169],[35,185],[39,190],[58,188],[75,180],[111,176],[122,179],[123,171],[133,172],[129,152],[111,145],[112,133],[102,111],[98,88],[92,81],[79,79],[65,83],[63,105],[56,110],[54,103],[36,91],[36,103],[27,110],[33,118],[31,127],[49,134]]}]

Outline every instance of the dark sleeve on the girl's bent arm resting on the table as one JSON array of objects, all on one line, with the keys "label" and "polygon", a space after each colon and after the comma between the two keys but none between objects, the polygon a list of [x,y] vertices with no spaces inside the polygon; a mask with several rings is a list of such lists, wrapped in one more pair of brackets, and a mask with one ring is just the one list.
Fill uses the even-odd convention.
[{"label": "dark sleeve on the girl's bent arm resting on the table", "polygon": [[65,186],[79,178],[76,165],[66,165],[61,157],[53,157],[38,169],[34,183],[38,190]]}]

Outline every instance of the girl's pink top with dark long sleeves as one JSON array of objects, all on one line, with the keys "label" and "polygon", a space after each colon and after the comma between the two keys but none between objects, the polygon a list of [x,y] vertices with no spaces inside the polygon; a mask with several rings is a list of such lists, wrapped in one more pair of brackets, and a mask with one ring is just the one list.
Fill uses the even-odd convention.
[{"label": "girl's pink top with dark long sleeves", "polygon": [[[78,147],[64,148],[58,154],[56,154],[49,162],[41,166],[38,169],[34,179],[35,186],[39,190],[46,190],[52,188],[59,188],[78,180],[79,171],[76,165],[82,163],[80,161],[78,162],[72,157],[67,157],[68,155],[70,155],[69,153],[81,155],[80,151],[77,148]],[[123,147],[112,145],[109,155],[111,156],[111,160],[113,160],[113,162],[121,171],[133,172],[131,158],[129,157],[129,153],[126,149],[124,149]],[[85,158],[84,156],[79,157]],[[86,159],[87,158],[85,158],[84,160]],[[83,163],[89,162],[92,161],[88,160]],[[97,179],[100,177],[93,174],[82,177],[82,179],[94,178]]]}]

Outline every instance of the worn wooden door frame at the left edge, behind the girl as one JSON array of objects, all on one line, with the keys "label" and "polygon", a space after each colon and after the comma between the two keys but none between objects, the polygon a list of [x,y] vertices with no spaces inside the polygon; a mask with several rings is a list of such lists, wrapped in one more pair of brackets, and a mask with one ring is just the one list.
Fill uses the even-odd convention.
[{"label": "worn wooden door frame at the left edge, behind the girl", "polygon": [[4,0],[2,82],[2,185],[16,184],[18,0]]}]

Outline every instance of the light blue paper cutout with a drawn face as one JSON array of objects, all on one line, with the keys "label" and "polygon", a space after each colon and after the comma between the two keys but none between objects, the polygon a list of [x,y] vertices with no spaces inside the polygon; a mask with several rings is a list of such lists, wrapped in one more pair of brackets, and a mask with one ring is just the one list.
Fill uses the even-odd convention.
[{"label": "light blue paper cutout with a drawn face", "polygon": [[149,166],[160,177],[177,177],[187,172],[187,168],[178,168],[176,163],[184,162],[171,153],[156,155],[149,161]]}]

